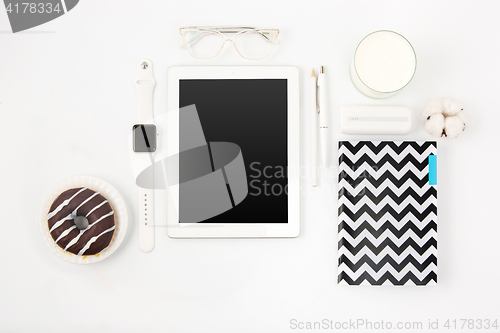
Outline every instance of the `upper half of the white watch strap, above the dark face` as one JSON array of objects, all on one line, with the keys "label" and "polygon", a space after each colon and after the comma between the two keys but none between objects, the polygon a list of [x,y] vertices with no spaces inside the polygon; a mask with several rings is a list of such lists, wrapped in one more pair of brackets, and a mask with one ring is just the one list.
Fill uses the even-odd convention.
[{"label": "upper half of the white watch strap, above the dark face", "polygon": [[137,123],[152,123],[153,93],[156,80],[153,75],[153,63],[149,59],[142,59],[137,64],[135,89],[137,91]]}]

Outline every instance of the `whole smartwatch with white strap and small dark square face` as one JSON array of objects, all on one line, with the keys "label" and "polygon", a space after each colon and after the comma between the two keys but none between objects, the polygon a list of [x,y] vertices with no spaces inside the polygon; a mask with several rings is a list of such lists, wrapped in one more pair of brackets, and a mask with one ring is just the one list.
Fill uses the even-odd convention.
[{"label": "whole smartwatch with white strap and small dark square face", "polygon": [[[156,81],[153,76],[153,64],[149,59],[142,59],[137,65],[135,88],[137,91],[137,121],[132,127],[132,149],[137,166],[145,170],[154,167],[154,153],[157,148],[157,129],[154,124],[153,94]],[[138,186],[139,210],[139,248],[151,252],[155,246],[154,219],[154,171],[146,175],[151,179],[142,179]]]}]

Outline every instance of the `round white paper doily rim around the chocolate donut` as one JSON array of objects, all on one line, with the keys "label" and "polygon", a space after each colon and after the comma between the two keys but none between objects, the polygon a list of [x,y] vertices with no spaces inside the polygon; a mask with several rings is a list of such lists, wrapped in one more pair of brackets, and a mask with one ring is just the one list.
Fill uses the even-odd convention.
[{"label": "round white paper doily rim around the chocolate donut", "polygon": [[[59,245],[54,242],[52,236],[49,233],[47,214],[49,213],[50,206],[62,192],[75,187],[87,187],[96,192],[99,192],[108,200],[111,208],[115,212],[115,232],[113,233],[113,238],[111,239],[108,248],[97,255],[78,256],[76,254],[64,251],[64,249],[59,247]],[[40,230],[42,232],[42,237],[45,240],[45,243],[47,243],[50,250],[59,258],[75,264],[93,264],[109,257],[111,254],[113,254],[113,252],[116,251],[116,249],[120,246],[123,239],[125,238],[125,234],[127,233],[127,226],[127,207],[125,206],[125,202],[120,196],[120,193],[118,193],[118,191],[113,186],[111,186],[104,180],[92,176],[75,176],[59,182],[47,194],[40,210]]]}]

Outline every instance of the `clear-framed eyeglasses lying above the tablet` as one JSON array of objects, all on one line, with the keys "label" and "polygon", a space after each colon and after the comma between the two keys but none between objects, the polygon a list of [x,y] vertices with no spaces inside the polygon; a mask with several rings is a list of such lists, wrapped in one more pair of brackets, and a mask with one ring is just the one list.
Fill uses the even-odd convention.
[{"label": "clear-framed eyeglasses lying above the tablet", "polygon": [[232,42],[245,59],[264,59],[278,43],[278,29],[250,27],[187,27],[180,29],[184,43],[181,45],[199,59],[214,58],[220,54],[226,42]]}]

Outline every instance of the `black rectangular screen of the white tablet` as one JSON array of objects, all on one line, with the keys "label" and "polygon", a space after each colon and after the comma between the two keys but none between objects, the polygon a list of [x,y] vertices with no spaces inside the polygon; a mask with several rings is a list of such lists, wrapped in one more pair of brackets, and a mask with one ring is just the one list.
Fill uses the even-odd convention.
[{"label": "black rectangular screen of the white tablet", "polygon": [[287,97],[286,79],[179,81],[179,222],[288,222]]}]

